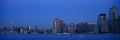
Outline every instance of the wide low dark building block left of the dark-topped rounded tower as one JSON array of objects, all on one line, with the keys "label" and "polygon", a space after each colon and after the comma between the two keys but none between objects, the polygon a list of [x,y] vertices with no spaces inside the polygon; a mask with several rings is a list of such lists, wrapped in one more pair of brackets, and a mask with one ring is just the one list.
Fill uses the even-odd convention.
[{"label": "wide low dark building block left of the dark-topped rounded tower", "polygon": [[98,33],[97,24],[87,22],[76,24],[76,33]]}]

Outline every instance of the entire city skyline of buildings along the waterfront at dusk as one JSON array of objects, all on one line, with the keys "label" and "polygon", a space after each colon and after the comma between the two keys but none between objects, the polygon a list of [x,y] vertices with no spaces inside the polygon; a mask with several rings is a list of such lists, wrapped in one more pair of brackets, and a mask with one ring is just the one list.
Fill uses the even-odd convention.
[{"label": "entire city skyline of buildings along the waterfront at dusk", "polygon": [[[112,6],[109,8],[109,17],[105,13],[98,15],[96,24],[88,22],[66,24],[63,19],[54,18],[52,28],[38,28],[38,26],[14,25],[11,21],[8,27],[0,26],[0,33],[8,34],[99,34],[99,33],[120,33],[120,16],[118,8]],[[33,28],[34,27],[34,28]]]}]

